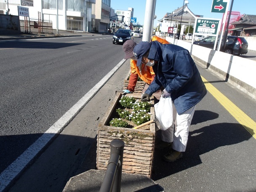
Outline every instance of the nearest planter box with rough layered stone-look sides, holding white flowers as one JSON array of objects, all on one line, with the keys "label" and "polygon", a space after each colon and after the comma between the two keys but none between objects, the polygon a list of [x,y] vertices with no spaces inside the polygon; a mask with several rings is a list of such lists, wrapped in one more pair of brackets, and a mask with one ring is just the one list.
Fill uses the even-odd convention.
[{"label": "nearest planter box with rough layered stone-look sides, holding white flowers", "polygon": [[[136,99],[140,94],[127,94]],[[121,139],[125,142],[123,154],[123,172],[143,174],[151,177],[152,162],[155,149],[155,123],[150,124],[149,130],[120,128],[108,125],[112,112],[116,109],[122,94],[116,96],[102,118],[98,127],[97,136],[97,169],[107,170],[107,162],[110,156],[110,142],[113,139]],[[152,107],[150,110],[150,120],[155,119],[154,99],[151,99]]]}]

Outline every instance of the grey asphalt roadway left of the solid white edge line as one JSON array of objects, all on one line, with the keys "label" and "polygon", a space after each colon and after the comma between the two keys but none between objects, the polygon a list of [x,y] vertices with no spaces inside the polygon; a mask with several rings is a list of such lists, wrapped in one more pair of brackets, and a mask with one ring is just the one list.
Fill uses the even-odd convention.
[{"label": "grey asphalt roadway left of the solid white edge line", "polygon": [[112,36],[0,44],[0,172],[123,59]]}]

